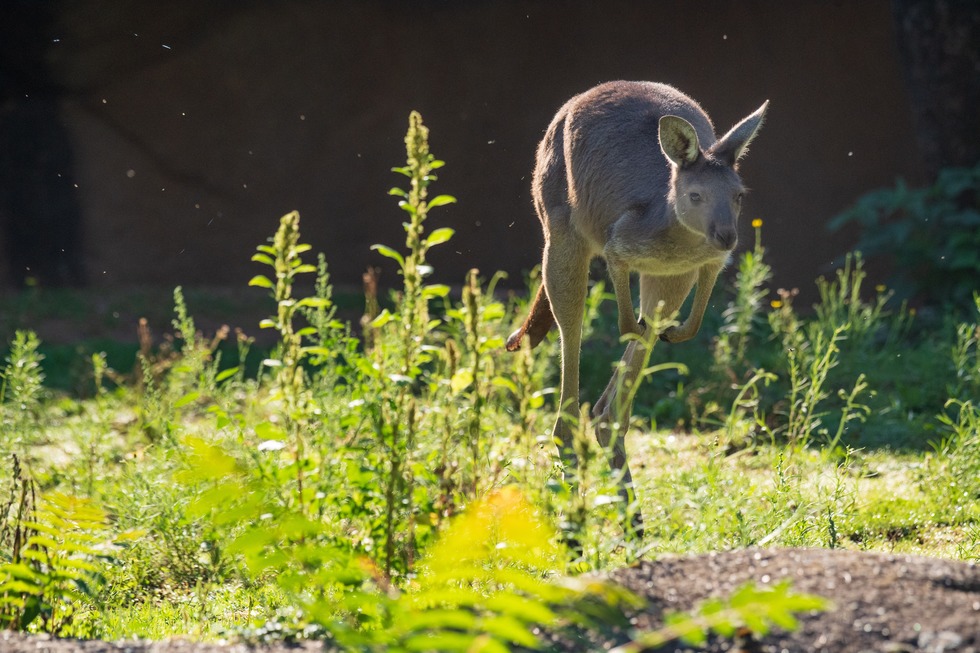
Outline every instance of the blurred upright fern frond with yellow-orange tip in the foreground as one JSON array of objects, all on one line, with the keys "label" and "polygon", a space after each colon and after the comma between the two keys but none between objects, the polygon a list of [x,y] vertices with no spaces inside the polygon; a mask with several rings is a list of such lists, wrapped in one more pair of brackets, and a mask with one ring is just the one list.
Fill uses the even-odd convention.
[{"label": "blurred upright fern frond with yellow-orange tip in the foreground", "polygon": [[538,648],[534,626],[560,621],[576,592],[549,582],[562,552],[513,488],[460,515],[422,562],[418,590],[395,606],[386,650]]}]

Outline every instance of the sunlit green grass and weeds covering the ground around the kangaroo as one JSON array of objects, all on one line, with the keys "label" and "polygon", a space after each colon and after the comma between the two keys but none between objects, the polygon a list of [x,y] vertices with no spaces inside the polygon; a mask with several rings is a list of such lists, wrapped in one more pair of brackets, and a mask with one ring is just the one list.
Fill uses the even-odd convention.
[{"label": "sunlit green grass and weeds covering the ground around the kangaroo", "polygon": [[[864,287],[855,256],[818,281],[815,310],[798,310],[768,287],[758,222],[716,297],[726,308],[695,341],[653,352],[653,366],[681,365],[637,398],[636,540],[587,413],[578,483],[557,465],[554,337],[503,352],[523,296],[475,271],[458,296],[429,282],[427,253],[453,234],[425,221],[453,198],[429,195],[443,163],[417,114],[406,152],[406,187],[391,191],[406,242],[374,248],[403,284],[387,296],[369,285],[360,320],[295,213],[253,257],[258,299],[244,304],[258,331],[221,327],[238,295],[178,288],[144,297],[152,334],[132,313],[130,344],[49,347],[30,323],[91,321],[91,296],[3,300],[0,625],[508,650],[534,645],[538,624],[622,618],[631,597],[560,579],[642,556],[815,546],[980,559],[980,299],[965,317],[916,316]],[[621,351],[615,319],[595,283],[586,399]],[[762,613],[771,598],[774,619],[810,605],[752,596]],[[673,635],[640,640],[661,636]]]}]

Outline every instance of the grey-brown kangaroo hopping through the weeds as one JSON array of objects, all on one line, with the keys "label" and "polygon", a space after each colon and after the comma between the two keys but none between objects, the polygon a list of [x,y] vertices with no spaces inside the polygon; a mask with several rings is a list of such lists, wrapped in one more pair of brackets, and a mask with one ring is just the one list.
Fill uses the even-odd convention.
[{"label": "grey-brown kangaroo hopping through the weeds", "polygon": [[[566,102],[538,146],[532,194],[544,230],[543,283],[507,349],[519,349],[525,336],[534,347],[557,322],[561,397],[554,437],[566,465],[576,465],[565,416],[578,415],[589,261],[605,259],[620,333],[642,336],[627,345],[593,409],[597,439],[622,474],[627,501],[632,475],[623,437],[613,434],[614,425],[628,424],[632,406],[617,395],[636,381],[646,348],[657,337],[683,342],[701,327],[715,280],[738,240],[745,188],[737,163],[768,104],[717,138],[704,110],[677,89],[610,82]],[[631,271],[640,275],[640,320],[633,311]],[[695,284],[691,314],[682,324],[659,334],[644,326],[676,314]],[[639,512],[633,523],[642,528]]]}]

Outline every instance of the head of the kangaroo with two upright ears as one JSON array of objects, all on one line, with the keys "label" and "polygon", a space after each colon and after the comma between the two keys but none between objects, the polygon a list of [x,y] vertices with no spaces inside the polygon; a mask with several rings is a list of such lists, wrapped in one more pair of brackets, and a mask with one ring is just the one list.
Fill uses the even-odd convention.
[{"label": "head of the kangaroo with two upright ears", "polygon": [[678,222],[720,250],[732,250],[738,242],[745,187],[737,164],[762,126],[768,105],[766,101],[707,150],[701,149],[688,121],[678,116],[660,119],[660,148],[671,168],[668,202]]}]

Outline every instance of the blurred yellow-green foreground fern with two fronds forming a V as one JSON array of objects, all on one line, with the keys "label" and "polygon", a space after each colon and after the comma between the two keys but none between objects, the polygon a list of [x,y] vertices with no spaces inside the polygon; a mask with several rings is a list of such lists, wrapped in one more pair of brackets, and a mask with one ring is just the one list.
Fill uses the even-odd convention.
[{"label": "blurred yellow-green foreground fern with two fronds forming a V", "polygon": [[597,594],[548,580],[564,556],[512,488],[457,517],[399,594],[325,524],[275,500],[270,479],[221,448],[185,445],[191,456],[179,480],[196,489],[194,510],[225,534],[226,550],[241,556],[250,578],[272,579],[302,609],[302,621],[346,650],[534,646],[532,626],[572,618],[578,598]]}]

